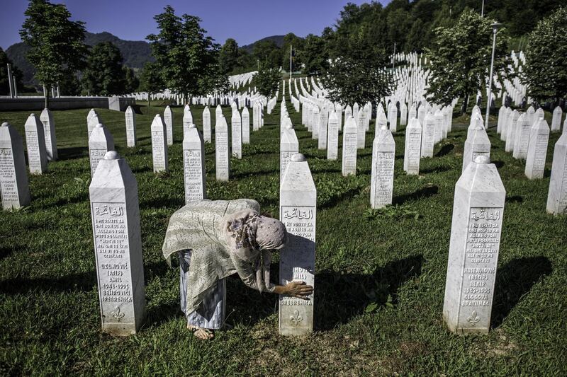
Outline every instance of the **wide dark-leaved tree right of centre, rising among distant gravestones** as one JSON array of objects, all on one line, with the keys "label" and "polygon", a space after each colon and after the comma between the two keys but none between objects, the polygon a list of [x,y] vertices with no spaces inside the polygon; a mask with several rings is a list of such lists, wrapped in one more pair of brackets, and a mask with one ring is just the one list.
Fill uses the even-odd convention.
[{"label": "wide dark-leaved tree right of centre, rising among distant gravestones", "polygon": [[366,60],[340,57],[332,60],[322,76],[322,84],[329,91],[327,98],[352,105],[380,102],[381,98],[391,94],[393,79]]}]

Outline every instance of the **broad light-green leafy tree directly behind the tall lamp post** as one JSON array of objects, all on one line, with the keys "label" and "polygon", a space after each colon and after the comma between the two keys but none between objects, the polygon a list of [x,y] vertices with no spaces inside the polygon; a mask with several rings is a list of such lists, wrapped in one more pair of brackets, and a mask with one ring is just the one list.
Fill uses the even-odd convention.
[{"label": "broad light-green leafy tree directly behind the tall lamp post", "polygon": [[[451,28],[436,28],[431,49],[426,49],[431,62],[431,76],[427,95],[434,103],[447,105],[461,98],[461,113],[466,112],[468,98],[477,91],[485,91],[492,54],[494,23],[490,18],[468,10],[461,13]],[[503,72],[503,79],[511,77],[507,64],[507,38],[500,30],[496,38],[494,71]],[[494,88],[495,90],[495,88]]]}]

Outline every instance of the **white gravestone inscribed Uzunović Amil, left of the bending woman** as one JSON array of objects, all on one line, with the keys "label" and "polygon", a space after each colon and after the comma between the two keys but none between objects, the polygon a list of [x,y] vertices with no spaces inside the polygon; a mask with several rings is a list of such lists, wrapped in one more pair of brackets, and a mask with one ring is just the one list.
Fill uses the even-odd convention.
[{"label": "white gravestone inscribed Uzunovi\u0107 Amil, left of the bending woman", "polygon": [[100,161],[89,187],[102,330],[135,334],[145,318],[137,182],[116,151]]}]

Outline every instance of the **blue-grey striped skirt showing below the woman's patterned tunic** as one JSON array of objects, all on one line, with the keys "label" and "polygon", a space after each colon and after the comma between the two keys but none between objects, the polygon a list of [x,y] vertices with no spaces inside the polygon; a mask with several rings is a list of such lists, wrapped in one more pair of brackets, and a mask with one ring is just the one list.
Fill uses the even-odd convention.
[{"label": "blue-grey striped skirt showing below the woman's patterned tunic", "polygon": [[[191,265],[191,250],[178,252],[179,257],[179,291],[181,296],[181,311],[185,313],[187,306],[187,280],[189,265]],[[225,320],[226,280],[217,282],[215,289],[203,299],[196,311],[185,313],[187,324],[218,330],[223,327]]]}]

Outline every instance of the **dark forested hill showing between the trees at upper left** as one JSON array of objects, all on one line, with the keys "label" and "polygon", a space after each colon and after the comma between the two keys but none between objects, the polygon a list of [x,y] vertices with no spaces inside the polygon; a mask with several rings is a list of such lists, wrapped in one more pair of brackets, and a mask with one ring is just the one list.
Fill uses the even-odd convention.
[{"label": "dark forested hill showing between the trees at upper left", "polygon": [[[111,33],[85,33],[85,43],[89,46],[94,46],[100,42],[112,42],[124,58],[125,66],[130,68],[142,68],[146,62],[152,61],[150,44],[143,40],[121,40],[116,35]],[[11,59],[14,65],[21,69],[23,73],[23,83],[26,85],[35,84],[33,79],[33,66],[26,59],[26,52],[28,51],[28,46],[19,42],[11,45],[6,54]]]}]

